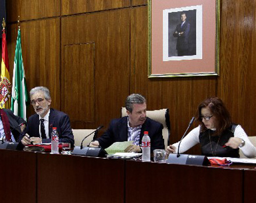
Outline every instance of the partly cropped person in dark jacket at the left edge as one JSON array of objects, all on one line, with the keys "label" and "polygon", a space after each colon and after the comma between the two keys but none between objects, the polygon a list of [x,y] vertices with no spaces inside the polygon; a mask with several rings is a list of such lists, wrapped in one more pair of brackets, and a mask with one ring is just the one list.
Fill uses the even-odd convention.
[{"label": "partly cropped person in dark jacket at the left edge", "polygon": [[0,138],[8,142],[16,142],[25,127],[23,125],[25,123],[23,118],[14,115],[11,110],[0,109]]}]

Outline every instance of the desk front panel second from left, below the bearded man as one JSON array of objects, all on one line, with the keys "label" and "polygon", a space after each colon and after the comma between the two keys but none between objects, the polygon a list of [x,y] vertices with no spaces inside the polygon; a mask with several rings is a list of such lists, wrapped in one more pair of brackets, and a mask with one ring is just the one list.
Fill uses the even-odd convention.
[{"label": "desk front panel second from left, below the bearded man", "polygon": [[38,154],[38,203],[122,202],[125,161]]}]

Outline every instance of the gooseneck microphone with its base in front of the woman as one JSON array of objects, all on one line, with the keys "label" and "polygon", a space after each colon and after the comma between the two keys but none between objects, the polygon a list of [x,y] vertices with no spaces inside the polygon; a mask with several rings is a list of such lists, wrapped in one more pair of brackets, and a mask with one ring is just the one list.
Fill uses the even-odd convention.
[{"label": "gooseneck microphone with its base in front of the woman", "polygon": [[189,126],[187,127],[182,139],[180,139],[177,155],[176,154],[169,154],[167,163],[168,164],[188,164],[188,165],[200,165],[200,166],[207,166],[209,165],[209,160],[204,155],[189,155],[189,154],[180,154],[180,143],[182,142],[183,138],[186,136],[187,131],[189,130],[190,126],[194,122],[194,117],[192,117],[191,121],[189,122]]}]

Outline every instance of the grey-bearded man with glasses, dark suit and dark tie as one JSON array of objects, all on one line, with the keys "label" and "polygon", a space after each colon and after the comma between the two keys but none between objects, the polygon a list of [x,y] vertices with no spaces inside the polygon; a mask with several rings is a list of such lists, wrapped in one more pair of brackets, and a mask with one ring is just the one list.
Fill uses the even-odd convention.
[{"label": "grey-bearded man with glasses, dark suit and dark tie", "polygon": [[35,113],[29,117],[27,127],[19,137],[23,145],[50,143],[52,128],[57,128],[59,142],[74,145],[74,136],[69,116],[62,111],[51,108],[49,89],[38,86],[30,90],[30,100]]}]

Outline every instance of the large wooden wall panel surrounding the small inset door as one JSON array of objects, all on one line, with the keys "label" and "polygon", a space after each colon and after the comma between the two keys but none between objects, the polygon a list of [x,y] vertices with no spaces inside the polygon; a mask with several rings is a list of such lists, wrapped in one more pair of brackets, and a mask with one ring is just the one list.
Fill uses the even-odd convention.
[{"label": "large wooden wall panel surrounding the small inset door", "polygon": [[[90,129],[98,125],[104,125],[106,128],[112,118],[120,117],[120,107],[129,95],[129,19],[129,9],[63,17],[62,57],[65,45],[89,42],[95,44],[95,122],[81,125],[73,121],[72,128]],[[69,85],[64,85],[63,81],[62,78],[62,92],[65,91],[63,86]],[[83,97],[87,96],[90,95],[83,92]],[[63,99],[66,100],[65,97]],[[74,106],[78,104],[79,99],[73,98]],[[65,110],[63,105],[62,110]],[[83,114],[85,110],[81,107],[80,113]]]}]

